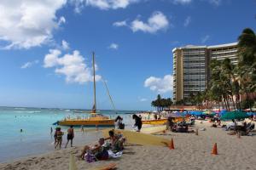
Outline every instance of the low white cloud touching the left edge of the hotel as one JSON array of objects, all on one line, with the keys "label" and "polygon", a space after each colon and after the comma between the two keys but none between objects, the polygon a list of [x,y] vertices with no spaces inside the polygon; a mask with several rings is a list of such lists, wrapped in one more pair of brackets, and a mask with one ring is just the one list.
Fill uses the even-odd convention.
[{"label": "low white cloud touching the left edge of the hotel", "polygon": [[163,78],[160,77],[148,77],[144,82],[145,88],[150,88],[152,91],[156,91],[160,94],[172,92],[173,77],[172,75],[166,75]]}]

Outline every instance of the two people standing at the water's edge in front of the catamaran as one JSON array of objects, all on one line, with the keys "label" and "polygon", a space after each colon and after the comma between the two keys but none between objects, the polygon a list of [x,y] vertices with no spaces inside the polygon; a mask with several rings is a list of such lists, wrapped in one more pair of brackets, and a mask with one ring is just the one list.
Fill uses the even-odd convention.
[{"label": "two people standing at the water's edge in front of the catamaran", "polygon": [[[52,127],[50,128],[50,133],[52,133]],[[55,134],[54,134],[54,138],[55,138],[55,149],[57,147],[59,147],[61,149],[61,144],[62,144],[62,136],[64,135],[64,133],[61,131],[61,127],[56,127],[55,128]],[[70,146],[73,147],[73,138],[74,138],[74,130],[73,130],[73,126],[70,126],[67,129],[67,143],[65,145],[65,148],[67,148],[67,144],[70,141]]]}]

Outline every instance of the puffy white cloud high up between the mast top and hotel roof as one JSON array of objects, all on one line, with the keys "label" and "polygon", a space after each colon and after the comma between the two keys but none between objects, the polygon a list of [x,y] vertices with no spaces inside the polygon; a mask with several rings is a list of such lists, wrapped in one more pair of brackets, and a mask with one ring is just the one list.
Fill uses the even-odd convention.
[{"label": "puffy white cloud high up between the mast top and hotel roof", "polygon": [[169,21],[166,18],[165,14],[162,14],[160,11],[154,12],[150,18],[148,18],[148,22],[145,23],[141,20],[133,20],[131,22],[131,30],[136,31],[144,31],[149,33],[154,33],[160,30],[166,30],[169,25]]}]

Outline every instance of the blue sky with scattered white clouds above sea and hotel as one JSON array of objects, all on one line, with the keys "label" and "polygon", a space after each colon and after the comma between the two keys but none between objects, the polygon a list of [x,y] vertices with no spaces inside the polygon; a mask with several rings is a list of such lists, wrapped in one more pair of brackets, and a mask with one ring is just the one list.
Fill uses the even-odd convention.
[{"label": "blue sky with scattered white clouds above sea and hotel", "polygon": [[152,110],[172,49],[256,31],[255,0],[0,0],[0,105]]}]

